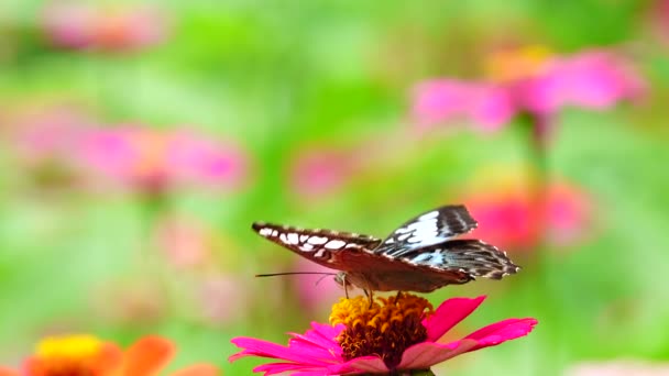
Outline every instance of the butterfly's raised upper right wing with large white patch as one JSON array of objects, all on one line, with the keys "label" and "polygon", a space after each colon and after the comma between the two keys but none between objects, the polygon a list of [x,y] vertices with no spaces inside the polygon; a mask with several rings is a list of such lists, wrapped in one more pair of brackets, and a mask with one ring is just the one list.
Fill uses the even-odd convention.
[{"label": "butterfly's raised upper right wing with large white patch", "polygon": [[402,257],[430,245],[439,244],[476,228],[476,221],[464,206],[452,204],[423,213],[386,237],[375,254]]}]

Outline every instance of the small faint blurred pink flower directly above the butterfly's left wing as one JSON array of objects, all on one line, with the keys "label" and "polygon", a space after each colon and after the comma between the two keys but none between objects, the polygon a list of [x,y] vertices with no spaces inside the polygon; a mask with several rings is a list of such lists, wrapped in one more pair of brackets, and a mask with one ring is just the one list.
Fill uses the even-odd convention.
[{"label": "small faint blurred pink flower directly above the butterfly's left wing", "polygon": [[290,167],[293,189],[300,196],[317,197],[341,188],[358,167],[351,154],[332,148],[299,153]]}]

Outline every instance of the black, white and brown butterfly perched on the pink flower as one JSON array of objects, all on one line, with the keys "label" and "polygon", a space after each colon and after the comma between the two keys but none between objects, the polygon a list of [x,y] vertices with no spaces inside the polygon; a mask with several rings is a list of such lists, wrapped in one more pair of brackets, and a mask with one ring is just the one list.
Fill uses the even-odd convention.
[{"label": "black, white and brown butterfly perched on the pink flower", "polygon": [[340,270],[336,280],[371,291],[430,292],[476,277],[516,274],[505,252],[480,240],[454,239],[478,226],[462,204],[408,220],[385,240],[332,230],[253,223],[253,230],[317,264]]}]

